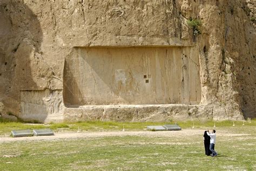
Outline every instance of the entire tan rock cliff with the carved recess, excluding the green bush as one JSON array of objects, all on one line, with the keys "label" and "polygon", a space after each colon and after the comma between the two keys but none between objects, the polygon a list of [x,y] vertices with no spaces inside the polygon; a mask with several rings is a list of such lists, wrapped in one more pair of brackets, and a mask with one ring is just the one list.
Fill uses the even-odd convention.
[{"label": "entire tan rock cliff with the carved recess, excluding the green bush", "polygon": [[0,113],[41,122],[253,118],[255,6],[2,0]]}]

